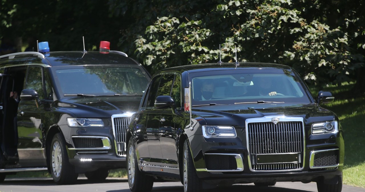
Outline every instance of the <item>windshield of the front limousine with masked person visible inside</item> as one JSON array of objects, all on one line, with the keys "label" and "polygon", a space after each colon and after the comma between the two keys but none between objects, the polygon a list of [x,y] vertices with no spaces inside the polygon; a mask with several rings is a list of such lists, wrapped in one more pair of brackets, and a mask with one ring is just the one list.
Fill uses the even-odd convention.
[{"label": "windshield of the front limousine with masked person visible inside", "polygon": [[297,102],[310,103],[291,70],[237,69],[197,72],[190,75],[192,106]]}]

